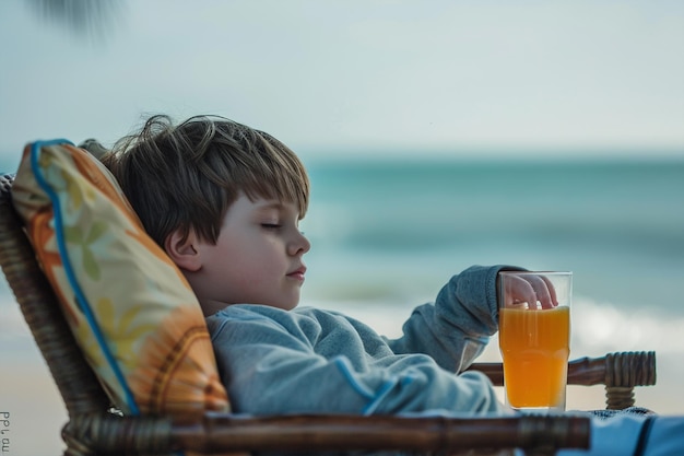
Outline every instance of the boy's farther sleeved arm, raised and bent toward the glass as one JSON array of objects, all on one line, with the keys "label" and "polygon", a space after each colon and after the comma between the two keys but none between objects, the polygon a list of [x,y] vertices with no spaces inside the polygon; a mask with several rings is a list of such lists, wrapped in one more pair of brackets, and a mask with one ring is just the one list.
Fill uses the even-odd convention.
[{"label": "boy's farther sleeved arm, raised and bent toward the glass", "polygon": [[498,329],[496,278],[509,266],[473,266],[453,276],[434,304],[414,309],[403,336],[388,340],[394,353],[426,353],[451,372],[468,367]]}]

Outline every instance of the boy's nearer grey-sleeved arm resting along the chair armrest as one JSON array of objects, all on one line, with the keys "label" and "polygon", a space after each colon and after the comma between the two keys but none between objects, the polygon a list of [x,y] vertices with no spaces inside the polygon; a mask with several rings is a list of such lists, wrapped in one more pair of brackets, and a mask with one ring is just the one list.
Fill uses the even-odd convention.
[{"label": "boy's nearer grey-sleeved arm resting along the chair armrest", "polygon": [[[235,318],[237,315],[237,318]],[[212,317],[213,318],[213,317]],[[240,413],[503,412],[486,377],[456,376],[422,354],[327,359],[297,325],[256,313],[210,319],[219,370]],[[390,356],[392,358],[392,356]]]}]

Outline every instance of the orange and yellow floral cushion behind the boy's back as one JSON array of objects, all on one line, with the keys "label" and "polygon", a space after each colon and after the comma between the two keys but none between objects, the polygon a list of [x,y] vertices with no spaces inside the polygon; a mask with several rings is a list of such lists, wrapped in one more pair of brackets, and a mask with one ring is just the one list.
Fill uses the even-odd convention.
[{"label": "orange and yellow floral cushion behind the boy's back", "polygon": [[64,140],[28,144],[12,198],[116,407],[186,418],[228,410],[197,297],[104,165]]}]

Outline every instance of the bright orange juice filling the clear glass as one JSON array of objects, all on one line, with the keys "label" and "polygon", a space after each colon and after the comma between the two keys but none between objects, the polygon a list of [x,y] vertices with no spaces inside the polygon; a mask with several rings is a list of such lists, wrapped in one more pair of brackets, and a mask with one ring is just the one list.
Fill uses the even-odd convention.
[{"label": "bright orange juice filling the clear glass", "polygon": [[506,398],[512,408],[565,407],[570,309],[499,309]]}]

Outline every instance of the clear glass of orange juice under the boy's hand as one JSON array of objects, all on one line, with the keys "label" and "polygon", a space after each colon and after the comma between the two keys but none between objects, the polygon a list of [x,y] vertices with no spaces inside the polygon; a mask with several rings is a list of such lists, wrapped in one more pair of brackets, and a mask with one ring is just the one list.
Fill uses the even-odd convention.
[{"label": "clear glass of orange juice under the boy's hand", "polygon": [[573,272],[502,271],[498,280],[506,404],[565,410]]}]

